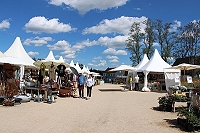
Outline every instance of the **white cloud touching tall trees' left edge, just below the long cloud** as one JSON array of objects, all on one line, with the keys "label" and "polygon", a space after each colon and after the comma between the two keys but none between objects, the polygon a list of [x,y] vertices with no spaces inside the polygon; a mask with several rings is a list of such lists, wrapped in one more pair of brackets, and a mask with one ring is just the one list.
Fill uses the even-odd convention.
[{"label": "white cloud touching tall trees' left edge, just below the long cloud", "polygon": [[111,48],[124,48],[128,36],[115,36],[114,38],[100,37],[98,43]]}]

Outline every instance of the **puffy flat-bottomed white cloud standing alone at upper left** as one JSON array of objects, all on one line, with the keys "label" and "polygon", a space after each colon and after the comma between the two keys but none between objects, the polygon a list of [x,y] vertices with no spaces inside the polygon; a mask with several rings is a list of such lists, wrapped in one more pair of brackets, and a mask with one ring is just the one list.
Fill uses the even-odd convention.
[{"label": "puffy flat-bottomed white cloud standing alone at upper left", "polygon": [[59,22],[58,18],[46,19],[43,16],[33,17],[25,24],[26,32],[32,32],[34,34],[40,33],[60,33],[70,32],[73,29],[69,24]]}]

